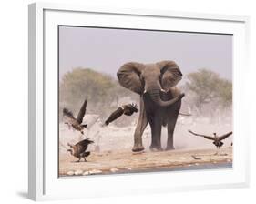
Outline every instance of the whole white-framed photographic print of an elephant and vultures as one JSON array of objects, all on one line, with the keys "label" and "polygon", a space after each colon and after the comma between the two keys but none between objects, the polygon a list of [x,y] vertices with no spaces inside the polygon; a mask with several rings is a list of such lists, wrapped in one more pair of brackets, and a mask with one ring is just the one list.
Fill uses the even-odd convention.
[{"label": "whole white-framed photographic print of an elephant and vultures", "polygon": [[29,198],[247,186],[248,22],[29,5]]}]

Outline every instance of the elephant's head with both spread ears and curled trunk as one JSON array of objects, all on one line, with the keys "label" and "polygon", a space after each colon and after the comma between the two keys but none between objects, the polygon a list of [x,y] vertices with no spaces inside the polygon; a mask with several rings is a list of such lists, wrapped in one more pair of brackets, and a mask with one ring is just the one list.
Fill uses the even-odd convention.
[{"label": "elephant's head with both spread ears and curled trunk", "polygon": [[160,98],[161,91],[168,91],[182,78],[179,66],[173,61],[161,61],[148,65],[128,62],[119,68],[117,76],[122,87],[139,95],[148,92],[151,99],[161,107],[170,106],[184,97],[184,94],[181,94],[169,101],[163,101]]}]

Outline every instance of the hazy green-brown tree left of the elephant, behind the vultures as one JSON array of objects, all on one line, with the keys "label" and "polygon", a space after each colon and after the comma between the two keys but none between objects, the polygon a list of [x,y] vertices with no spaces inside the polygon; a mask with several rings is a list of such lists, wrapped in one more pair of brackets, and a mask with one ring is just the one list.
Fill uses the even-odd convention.
[{"label": "hazy green-brown tree left of the elephant, behind the vultures", "polygon": [[133,97],[130,91],[119,86],[117,79],[90,68],[78,67],[67,72],[59,86],[60,110],[67,107],[78,112],[87,98],[87,110],[103,117],[108,116],[113,104],[118,105],[120,98],[128,96]]}]

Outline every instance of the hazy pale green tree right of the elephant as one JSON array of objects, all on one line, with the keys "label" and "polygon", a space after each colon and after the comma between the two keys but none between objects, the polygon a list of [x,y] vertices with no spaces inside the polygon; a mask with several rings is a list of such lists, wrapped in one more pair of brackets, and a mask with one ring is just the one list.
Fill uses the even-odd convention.
[{"label": "hazy pale green tree right of the elephant", "polygon": [[[200,111],[210,102],[228,107],[232,102],[232,83],[209,69],[188,74],[186,89],[194,93],[194,106]],[[218,102],[218,103],[216,103]]]}]

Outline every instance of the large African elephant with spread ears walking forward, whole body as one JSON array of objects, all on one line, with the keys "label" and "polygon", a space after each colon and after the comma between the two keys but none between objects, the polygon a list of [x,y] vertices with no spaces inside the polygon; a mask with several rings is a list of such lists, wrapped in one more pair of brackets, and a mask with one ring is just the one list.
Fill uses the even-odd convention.
[{"label": "large African elephant with spread ears walking forward, whole body", "polygon": [[161,128],[168,126],[167,150],[174,149],[173,131],[181,106],[181,94],[175,87],[182,78],[179,66],[173,61],[155,64],[128,62],[118,69],[118,81],[140,96],[140,112],[134,133],[132,151],[144,150],[142,134],[148,123],[151,128],[150,150],[162,150]]}]

